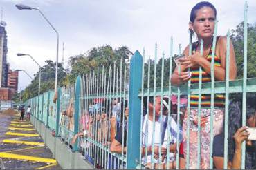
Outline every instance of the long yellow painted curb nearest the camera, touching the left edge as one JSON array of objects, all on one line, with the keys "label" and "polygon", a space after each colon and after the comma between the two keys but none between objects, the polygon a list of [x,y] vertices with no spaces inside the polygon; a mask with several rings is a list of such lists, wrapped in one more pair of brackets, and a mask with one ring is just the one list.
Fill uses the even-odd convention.
[{"label": "long yellow painted curb nearest the camera, touching the left edge", "polygon": [[17,159],[17,160],[30,160],[35,162],[46,162],[46,163],[52,163],[56,164],[57,161],[55,159],[50,158],[41,158],[41,157],[35,157],[35,156],[24,156],[24,155],[18,155],[14,153],[6,153],[6,152],[0,152],[1,158],[10,158],[10,159]]}]

